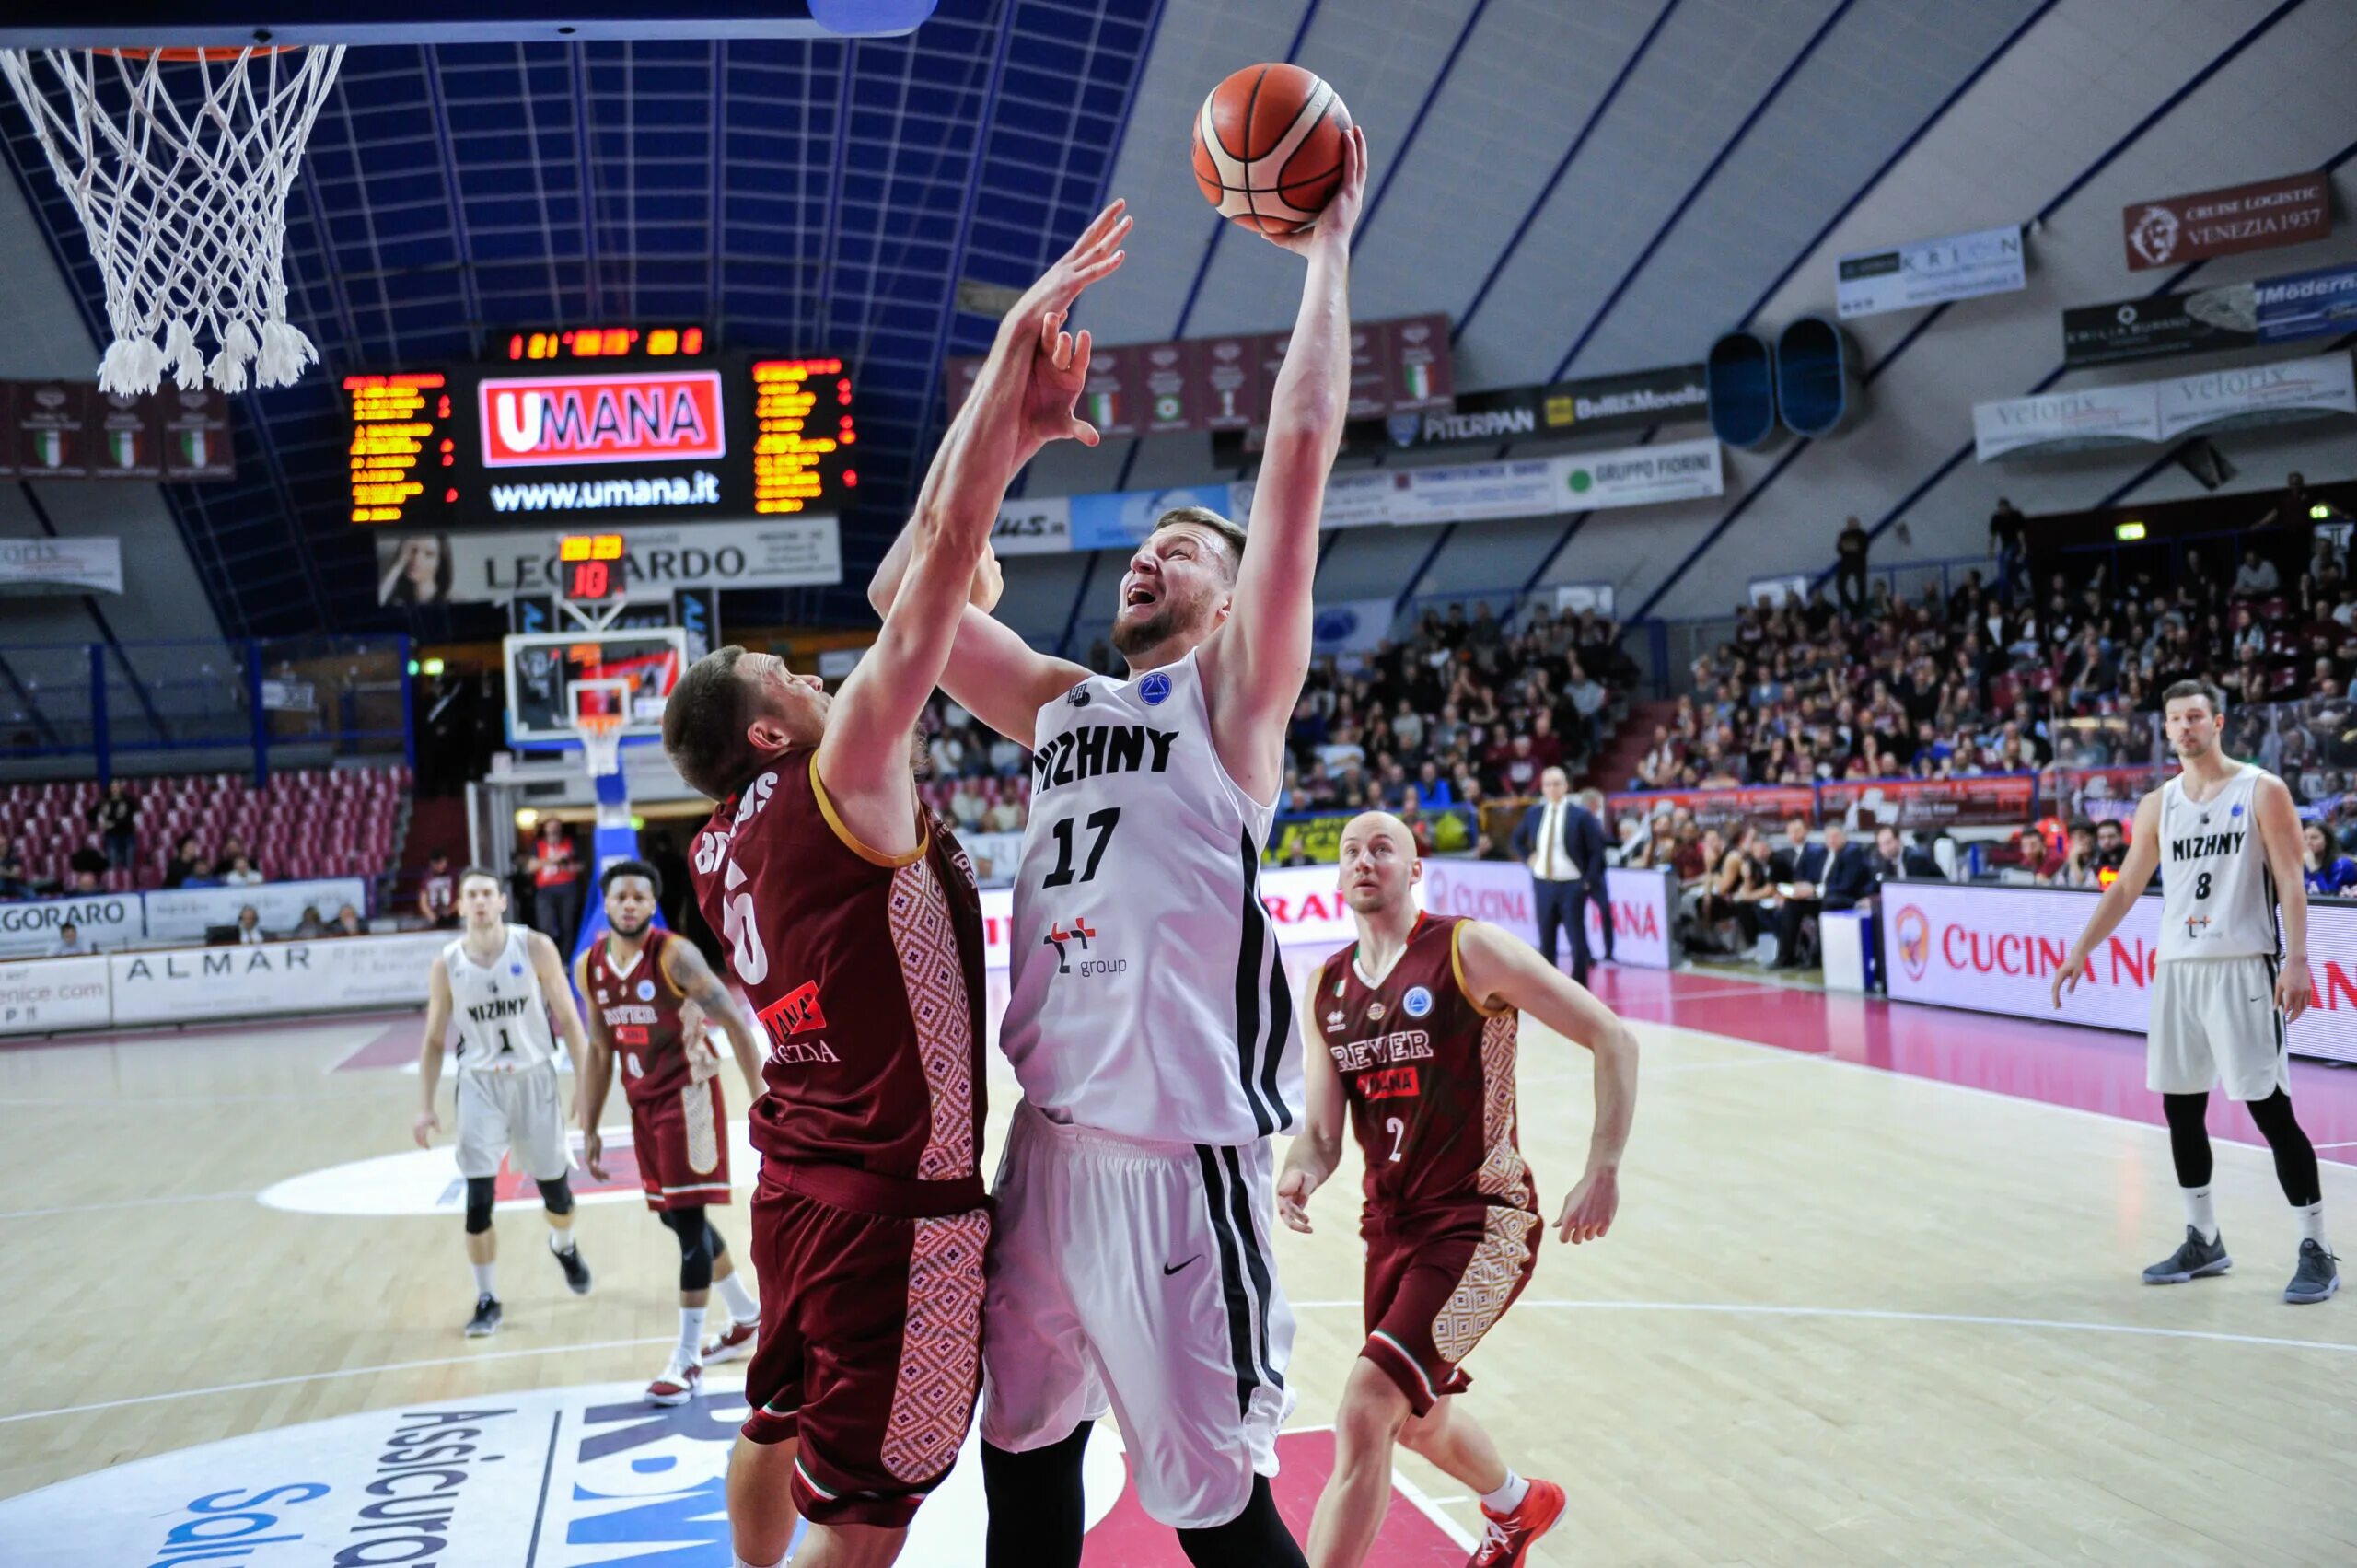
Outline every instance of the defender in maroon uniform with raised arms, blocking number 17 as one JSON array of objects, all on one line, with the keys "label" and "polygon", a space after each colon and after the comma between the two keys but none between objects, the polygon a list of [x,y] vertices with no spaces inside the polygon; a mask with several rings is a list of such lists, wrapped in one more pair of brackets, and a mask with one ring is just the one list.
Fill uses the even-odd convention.
[{"label": "defender in maroon uniform with raised arms, blocking number 17", "polygon": [[1108,207],[1004,318],[917,498],[915,552],[834,698],[785,660],[721,648],[662,717],[681,778],[721,802],[695,894],[766,1035],[752,1108],[761,1349],[728,1462],[740,1563],[867,1568],[900,1554],[981,1391],[983,920],[973,868],[917,802],[917,717],[957,615],[988,597],[1016,467],[1077,431],[1087,335],[1061,325],[1110,274]]}]

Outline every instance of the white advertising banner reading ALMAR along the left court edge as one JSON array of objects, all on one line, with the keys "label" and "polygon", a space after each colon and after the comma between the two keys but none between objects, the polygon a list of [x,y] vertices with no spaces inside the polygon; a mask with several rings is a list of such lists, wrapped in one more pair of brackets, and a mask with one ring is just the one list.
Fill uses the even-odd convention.
[{"label": "white advertising banner reading ALMAR along the left court edge", "polygon": [[415,1007],[448,931],[167,948],[106,960],[115,1026],[342,1007]]}]

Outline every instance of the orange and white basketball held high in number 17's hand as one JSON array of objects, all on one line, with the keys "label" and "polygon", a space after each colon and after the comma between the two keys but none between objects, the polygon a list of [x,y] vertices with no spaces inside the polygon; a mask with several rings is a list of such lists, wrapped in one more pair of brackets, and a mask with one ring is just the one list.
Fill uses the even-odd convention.
[{"label": "orange and white basketball held high in number 17's hand", "polygon": [[1341,94],[1301,66],[1244,66],[1195,116],[1202,198],[1261,233],[1299,233],[1341,184]]}]

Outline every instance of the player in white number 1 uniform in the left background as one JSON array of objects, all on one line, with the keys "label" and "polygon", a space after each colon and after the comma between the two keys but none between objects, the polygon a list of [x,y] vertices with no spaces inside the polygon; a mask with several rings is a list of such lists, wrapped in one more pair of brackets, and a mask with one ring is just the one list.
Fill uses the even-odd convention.
[{"label": "player in white number 1 uniform in the left background", "polygon": [[410,1129],[427,1148],[441,1132],[434,1089],[441,1085],[443,1037],[457,1023],[457,1174],[467,1179],[467,1266],[474,1271],[474,1318],[467,1337],[500,1332],[495,1269],[500,1238],[490,1228],[500,1155],[516,1151],[540,1184],[549,1212],[549,1252],[573,1294],[589,1294],[589,1264],[573,1245],[573,1158],[566,1151],[566,1106],[556,1092],[556,1040],[573,1061],[587,1061],[589,1037],[573,1007],[566,964],[530,927],[507,924],[507,882],[469,865],[457,879],[464,934],[427,971],[427,1035],[417,1049],[422,1111]]}]

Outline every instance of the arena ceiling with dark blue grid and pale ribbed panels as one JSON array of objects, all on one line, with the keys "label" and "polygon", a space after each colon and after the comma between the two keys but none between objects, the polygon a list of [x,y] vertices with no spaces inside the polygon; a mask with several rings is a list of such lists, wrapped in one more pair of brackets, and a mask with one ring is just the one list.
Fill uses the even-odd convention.
[{"label": "arena ceiling with dark blue grid and pale ribbed panels", "polygon": [[[1254,59],[1320,71],[1367,125],[1353,307],[1447,311],[1475,389],[1690,361],[1718,330],[1824,309],[1841,250],[1996,222],[2044,219],[2039,269],[2110,266],[2072,302],[2138,292],[2119,203],[2345,160],[2352,50],[2345,0],[943,0],[896,40],[356,47],[288,215],[290,314],[323,365],[240,398],[240,479],[170,502],[224,632],[384,625],[339,498],[339,375],[519,325],[709,321],[728,347],[851,361],[860,573],[940,429],[943,361],[988,344],[959,281],[1023,285],[1120,193],[1138,229],[1089,302],[1105,342],[1289,318],[1294,262],[1219,224],[1186,167],[1197,99]],[[97,335],[87,243],[14,104],[0,127]],[[1954,325],[1860,335],[1874,370],[1973,365],[1968,396],[2018,396],[2058,361],[2029,328],[1963,347]],[[1893,436],[1888,474],[1831,505],[1876,521],[1876,500],[1942,479],[1954,431],[1921,462]],[[1810,528],[1820,493],[1864,483],[1780,460],[1789,479],[1737,465],[1725,502],[1657,519],[1636,597],[1702,561],[1763,479],[1808,498]],[[1204,462],[1120,443],[1056,453],[1030,483]],[[1499,535],[1523,552],[1511,575],[1563,542]]]}]

